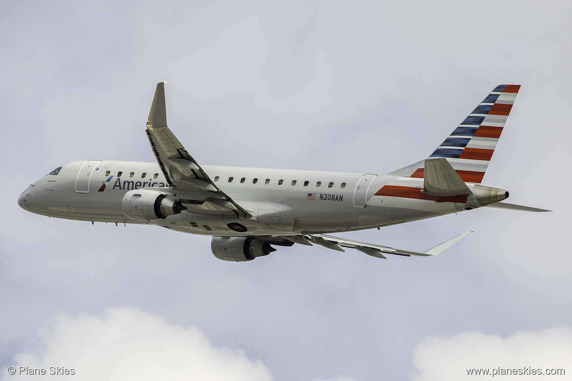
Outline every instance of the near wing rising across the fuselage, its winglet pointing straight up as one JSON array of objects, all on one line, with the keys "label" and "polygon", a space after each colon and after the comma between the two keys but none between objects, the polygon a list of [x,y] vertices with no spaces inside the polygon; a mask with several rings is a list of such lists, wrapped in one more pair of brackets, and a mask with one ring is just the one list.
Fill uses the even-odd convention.
[{"label": "near wing rising across the fuselage, its winglet pointing straight up", "polygon": [[[146,133],[157,163],[169,185],[174,189],[197,196],[196,199],[189,200],[194,210],[220,212],[220,214],[235,212],[246,217],[251,216],[248,211],[215,185],[167,127],[165,82],[157,83],[149,119],[147,119]],[[187,195],[186,198],[189,196]]]}]

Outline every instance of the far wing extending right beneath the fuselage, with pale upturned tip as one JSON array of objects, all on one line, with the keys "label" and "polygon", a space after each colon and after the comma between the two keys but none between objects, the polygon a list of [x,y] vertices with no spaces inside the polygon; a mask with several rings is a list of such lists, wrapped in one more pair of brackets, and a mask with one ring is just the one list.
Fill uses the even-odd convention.
[{"label": "far wing extending right beneath the fuselage, with pale upturned tip", "polygon": [[349,247],[349,248],[355,248],[356,250],[364,252],[367,255],[375,256],[376,258],[387,259],[387,256],[385,254],[403,255],[403,256],[438,255],[443,251],[447,250],[447,248],[451,247],[460,239],[464,238],[464,236],[466,236],[467,234],[470,234],[471,232],[472,231],[466,231],[454,238],[451,238],[423,252],[402,250],[400,248],[393,248],[393,247],[381,246],[379,244],[359,242],[351,239],[344,239],[324,234],[272,236],[272,237],[257,237],[257,238],[265,240],[271,244],[277,244],[280,246],[291,246],[292,243],[300,243],[312,246],[312,244],[316,243],[321,246],[331,248],[332,250],[337,250],[337,251],[345,251],[344,247]]}]

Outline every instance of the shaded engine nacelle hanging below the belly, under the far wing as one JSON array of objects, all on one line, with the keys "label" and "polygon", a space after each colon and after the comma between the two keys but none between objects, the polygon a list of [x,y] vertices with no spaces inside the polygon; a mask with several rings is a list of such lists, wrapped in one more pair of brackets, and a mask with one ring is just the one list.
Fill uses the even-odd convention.
[{"label": "shaded engine nacelle hanging below the belly, under the far wing", "polygon": [[276,251],[269,243],[248,237],[213,237],[210,250],[219,259],[245,262]]}]

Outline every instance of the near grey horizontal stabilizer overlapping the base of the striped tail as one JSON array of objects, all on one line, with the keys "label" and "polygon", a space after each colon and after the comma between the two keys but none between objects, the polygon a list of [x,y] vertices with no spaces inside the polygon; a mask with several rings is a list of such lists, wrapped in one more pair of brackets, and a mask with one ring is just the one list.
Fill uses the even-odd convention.
[{"label": "near grey horizontal stabilizer overlapping the base of the striped tail", "polygon": [[445,158],[426,159],[423,193],[437,197],[472,194]]}]

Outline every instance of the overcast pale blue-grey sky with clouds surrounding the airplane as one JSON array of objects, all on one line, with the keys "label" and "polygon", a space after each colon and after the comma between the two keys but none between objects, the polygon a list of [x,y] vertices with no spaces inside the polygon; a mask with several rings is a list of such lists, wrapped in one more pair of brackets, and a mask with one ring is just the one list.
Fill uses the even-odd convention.
[{"label": "overcast pale blue-grey sky with clouds surrounding the airplane", "polygon": [[[0,379],[23,379],[9,366],[78,380],[459,380],[476,367],[572,379],[571,13],[566,1],[3,2]],[[519,84],[483,185],[554,212],[344,235],[423,251],[475,231],[434,258],[295,246],[232,263],[206,237],[18,207],[63,163],[153,162],[160,81],[201,164],[370,173],[426,158],[496,85]]]}]

